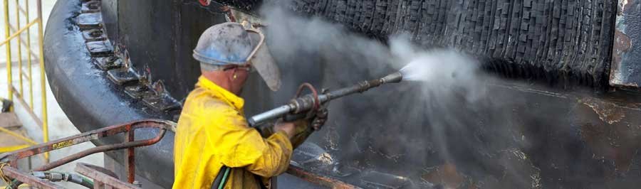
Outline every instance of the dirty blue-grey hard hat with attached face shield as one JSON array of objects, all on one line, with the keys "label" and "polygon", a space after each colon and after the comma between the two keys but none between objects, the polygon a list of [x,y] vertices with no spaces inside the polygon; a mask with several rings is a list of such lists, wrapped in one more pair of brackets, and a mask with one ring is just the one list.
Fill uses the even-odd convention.
[{"label": "dirty blue-grey hard hat with attached face shield", "polygon": [[281,72],[265,45],[265,36],[251,25],[227,22],[207,28],[198,39],[194,58],[210,65],[250,64],[269,89],[281,87]]}]

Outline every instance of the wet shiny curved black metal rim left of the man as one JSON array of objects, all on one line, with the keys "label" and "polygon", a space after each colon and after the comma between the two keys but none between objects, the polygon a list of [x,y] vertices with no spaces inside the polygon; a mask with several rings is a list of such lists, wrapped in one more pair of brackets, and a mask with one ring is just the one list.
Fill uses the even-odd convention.
[{"label": "wet shiny curved black metal rim left of the man", "polygon": [[[136,102],[124,95],[119,90],[122,86],[111,82],[105,76],[105,71],[91,63],[93,57],[85,46],[85,39],[77,23],[80,7],[78,1],[56,1],[56,6],[53,7],[49,16],[47,31],[44,33],[48,82],[51,83],[51,91],[69,119],[80,131],[91,131],[105,125],[139,119],[171,119],[170,116],[153,112],[142,102]],[[101,11],[104,10],[101,9]],[[102,114],[102,116],[88,116],[90,114]],[[157,134],[155,131],[136,132],[137,137],[145,138],[153,137],[155,134]],[[93,142],[97,145],[113,144],[123,141],[123,138],[123,136],[113,136]],[[170,156],[158,158],[158,154],[171,153],[172,148],[169,146],[173,146],[171,132],[167,133],[167,136],[157,145],[137,149],[136,157],[145,159],[145,161],[138,161],[137,173],[145,178],[158,178],[154,183],[171,185],[170,180],[173,180],[173,174],[167,172],[167,168],[171,168],[173,162]],[[123,151],[112,151],[106,154],[120,161],[125,158]],[[155,166],[146,166],[147,164]],[[165,172],[167,174],[164,174]]]}]

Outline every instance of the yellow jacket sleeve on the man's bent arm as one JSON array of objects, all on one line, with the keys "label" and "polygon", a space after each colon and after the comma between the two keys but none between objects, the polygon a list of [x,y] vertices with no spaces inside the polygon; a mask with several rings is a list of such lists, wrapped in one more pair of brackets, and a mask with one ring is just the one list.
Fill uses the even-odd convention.
[{"label": "yellow jacket sleeve on the man's bent arm", "polygon": [[264,139],[235,109],[215,108],[214,121],[207,130],[209,145],[216,146],[218,159],[231,168],[244,167],[246,171],[264,178],[286,171],[293,147],[281,131]]}]

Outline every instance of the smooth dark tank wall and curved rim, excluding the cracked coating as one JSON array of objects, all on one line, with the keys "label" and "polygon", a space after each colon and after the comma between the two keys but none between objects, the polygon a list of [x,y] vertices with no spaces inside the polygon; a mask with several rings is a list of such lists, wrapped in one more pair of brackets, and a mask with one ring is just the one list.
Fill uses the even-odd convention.
[{"label": "smooth dark tank wall and curved rim, excluding the cracked coating", "polygon": [[[106,56],[125,60],[137,78],[162,81],[162,97],[179,104],[199,76],[192,48],[205,28],[224,21],[221,6],[103,0],[99,27],[117,49]],[[149,107],[145,98],[127,93],[127,86],[137,84],[113,82],[110,73],[122,68],[102,70],[93,63],[105,55],[87,48],[83,27],[91,26],[79,20],[84,18],[81,9],[80,1],[58,1],[45,35],[48,79],[75,126],[88,131],[135,119],[177,119],[179,107]],[[267,43],[278,42],[273,40]],[[283,88],[271,92],[253,75],[243,93],[247,115],[287,102],[301,82],[340,87],[395,70],[332,50],[272,53],[281,65]],[[330,104],[328,125],[294,160],[305,159],[301,151],[326,152],[330,165],[313,161],[302,166],[364,188],[604,188],[635,185],[641,177],[639,157],[630,153],[641,144],[639,129],[626,126],[641,122],[630,116],[641,107],[634,94],[559,92],[520,82],[483,85],[488,93],[474,103],[457,92],[425,96],[421,85],[412,82],[340,99]],[[172,139],[167,134],[160,144],[137,151],[145,160],[137,161],[141,175],[165,187],[173,180]],[[120,152],[108,155],[123,159]]]}]

